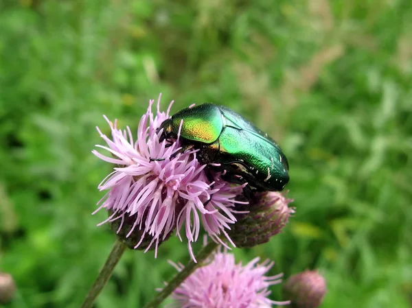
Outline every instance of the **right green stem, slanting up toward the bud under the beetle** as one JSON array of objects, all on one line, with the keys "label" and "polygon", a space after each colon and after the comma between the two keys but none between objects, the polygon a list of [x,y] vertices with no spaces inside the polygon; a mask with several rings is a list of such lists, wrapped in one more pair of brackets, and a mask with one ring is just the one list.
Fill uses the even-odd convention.
[{"label": "right green stem, slanting up toward the bud under the beetle", "polygon": [[196,268],[200,267],[209,257],[211,252],[214,252],[214,250],[218,247],[218,244],[216,244],[214,241],[209,241],[209,244],[207,244],[205,247],[202,248],[202,250],[196,255],[196,260],[198,263],[194,263],[193,260],[190,260],[189,263],[181,270],[181,272],[177,273],[176,276],[173,277],[173,279],[166,285],[161,292],[155,296],[150,302],[144,306],[144,308],[156,308],[159,307],[159,305],[167,298],[173,291],[176,289],[176,287],[179,287],[185,279],[187,279],[190,274],[196,270]]}]

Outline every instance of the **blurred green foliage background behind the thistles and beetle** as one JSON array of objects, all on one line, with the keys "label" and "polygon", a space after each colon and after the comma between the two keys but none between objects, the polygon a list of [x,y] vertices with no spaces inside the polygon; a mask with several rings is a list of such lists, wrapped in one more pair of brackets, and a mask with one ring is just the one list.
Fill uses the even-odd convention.
[{"label": "blurred green foliage background behind the thistles and beetle", "polygon": [[[79,307],[114,241],[91,216],[110,167],[102,118],[148,99],[230,106],[290,162],[297,213],[251,250],[273,274],[319,268],[323,308],[407,308],[412,294],[412,2],[4,0],[0,3],[0,270],[8,307]],[[198,249],[199,246],[195,246]],[[185,262],[172,238],[126,253],[96,307],[141,307]],[[273,287],[273,299],[282,298]]]}]

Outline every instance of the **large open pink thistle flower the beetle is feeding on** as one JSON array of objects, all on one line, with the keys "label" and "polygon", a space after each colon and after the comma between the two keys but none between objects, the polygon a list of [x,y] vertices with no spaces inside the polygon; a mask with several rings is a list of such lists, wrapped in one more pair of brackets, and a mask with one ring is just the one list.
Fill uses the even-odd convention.
[{"label": "large open pink thistle flower the beetle is feeding on", "polygon": [[159,142],[161,132],[157,132],[157,128],[169,118],[173,102],[167,112],[161,112],[160,99],[161,95],[156,115],[152,112],[154,100],[150,100],[148,110],[139,122],[136,139],[128,126],[126,130],[120,130],[117,121],[113,124],[106,117],[111,139],[97,128],[107,146],[96,147],[107,150],[111,156],[97,150],[93,150],[93,154],[115,167],[98,186],[100,191],[108,193],[98,202],[100,207],[94,213],[100,209],[108,210],[111,215],[99,225],[120,220],[117,233],[126,227],[126,238],[139,233],[139,241],[133,248],[146,248],[146,252],[154,244],[155,256],[159,244],[175,228],[182,240],[180,230],[184,226],[194,259],[190,244],[198,239],[202,224],[215,241],[224,244],[220,239],[224,235],[231,242],[226,229],[236,222],[233,208],[236,203],[242,203],[235,200],[242,193],[242,187],[233,187],[218,176],[215,176],[215,182],[209,182],[206,165],[198,163],[196,151],[172,156],[180,149],[179,140],[167,147],[167,141]]}]

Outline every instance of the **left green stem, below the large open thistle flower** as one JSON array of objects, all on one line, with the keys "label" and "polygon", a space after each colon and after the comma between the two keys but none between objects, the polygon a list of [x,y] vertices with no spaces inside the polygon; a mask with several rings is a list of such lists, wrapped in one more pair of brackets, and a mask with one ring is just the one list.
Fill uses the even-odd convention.
[{"label": "left green stem, below the large open thistle flower", "polygon": [[122,242],[117,241],[113,246],[106,263],[104,263],[102,270],[100,270],[98,278],[95,280],[91,286],[89,293],[87,294],[81,308],[91,308],[95,299],[98,297],[104,285],[106,285],[108,279],[110,278],[113,270],[115,269],[116,264],[119,262],[122,257],[123,252],[126,250],[127,246]]}]

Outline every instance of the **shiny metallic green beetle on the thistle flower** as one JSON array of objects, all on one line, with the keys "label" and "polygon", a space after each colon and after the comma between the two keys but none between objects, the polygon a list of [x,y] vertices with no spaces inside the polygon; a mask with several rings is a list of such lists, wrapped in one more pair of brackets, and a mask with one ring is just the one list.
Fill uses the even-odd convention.
[{"label": "shiny metallic green beetle on the thistle flower", "polygon": [[185,108],[161,123],[160,141],[176,140],[180,126],[183,151],[198,149],[198,160],[213,163],[225,180],[248,182],[258,191],[281,191],[288,183],[288,160],[279,145],[233,110],[215,104]]}]

